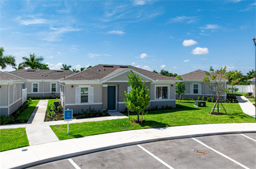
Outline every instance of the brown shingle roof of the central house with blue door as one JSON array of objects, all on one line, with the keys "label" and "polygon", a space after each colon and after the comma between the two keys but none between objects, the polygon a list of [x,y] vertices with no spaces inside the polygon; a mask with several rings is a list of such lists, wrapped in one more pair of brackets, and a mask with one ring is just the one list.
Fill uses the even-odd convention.
[{"label": "brown shingle roof of the central house with blue door", "polygon": [[[104,66],[108,66],[108,67],[104,67]],[[109,66],[113,66],[113,67],[109,67]],[[129,66],[131,69],[147,76],[150,77],[154,80],[177,80],[174,77],[168,77],[168,76],[164,76],[155,72],[151,72],[148,70],[144,70],[144,69],[140,69],[134,66]],[[100,71],[98,71],[98,69]],[[76,74],[70,75],[68,77],[62,78],[60,80],[95,80],[95,79],[99,79],[99,80],[103,80],[105,78],[111,77],[119,72],[122,72],[127,68],[127,66],[123,66],[123,65],[96,65],[92,68],[89,69],[85,69],[81,72],[78,72]]]}]

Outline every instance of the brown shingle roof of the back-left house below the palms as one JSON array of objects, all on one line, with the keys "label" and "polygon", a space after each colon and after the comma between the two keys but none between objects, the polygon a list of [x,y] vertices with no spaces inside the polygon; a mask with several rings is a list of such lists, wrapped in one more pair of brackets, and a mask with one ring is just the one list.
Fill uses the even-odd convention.
[{"label": "brown shingle roof of the back-left house below the palms", "polygon": [[10,73],[26,78],[26,79],[51,79],[58,80],[60,78],[75,74],[71,70],[32,70],[32,69],[19,69],[11,71]]}]

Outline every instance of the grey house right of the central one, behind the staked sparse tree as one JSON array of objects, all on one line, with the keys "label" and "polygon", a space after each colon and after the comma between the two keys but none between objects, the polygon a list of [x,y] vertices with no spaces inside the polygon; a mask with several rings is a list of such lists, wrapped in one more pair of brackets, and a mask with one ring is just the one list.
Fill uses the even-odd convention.
[{"label": "grey house right of the central one, behind the staked sparse tree", "polygon": [[[207,83],[203,81],[204,77],[206,77],[205,71],[203,70],[196,70],[194,72],[190,72],[187,74],[181,75],[184,84],[186,86],[185,95],[182,95],[182,98],[190,98],[190,99],[197,99],[198,96],[203,97],[212,97],[215,96],[215,93],[207,87]],[[210,82],[212,80],[210,79]],[[214,81],[212,81],[214,82]],[[227,80],[226,84],[227,85]],[[212,83],[214,85],[214,83]],[[178,95],[177,95],[178,96]],[[227,94],[222,93],[220,96],[220,100],[226,100]],[[215,96],[215,99],[217,97]]]}]

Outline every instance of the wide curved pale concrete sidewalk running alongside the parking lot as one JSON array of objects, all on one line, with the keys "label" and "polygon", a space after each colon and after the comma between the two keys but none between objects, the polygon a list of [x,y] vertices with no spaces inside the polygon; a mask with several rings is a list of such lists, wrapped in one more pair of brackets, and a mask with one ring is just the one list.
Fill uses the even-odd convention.
[{"label": "wide curved pale concrete sidewalk running alongside the parking lot", "polygon": [[[204,124],[130,130],[66,139],[0,153],[0,168],[25,168],[118,147],[167,139],[256,132],[256,123]],[[22,151],[27,149],[27,151]]]}]

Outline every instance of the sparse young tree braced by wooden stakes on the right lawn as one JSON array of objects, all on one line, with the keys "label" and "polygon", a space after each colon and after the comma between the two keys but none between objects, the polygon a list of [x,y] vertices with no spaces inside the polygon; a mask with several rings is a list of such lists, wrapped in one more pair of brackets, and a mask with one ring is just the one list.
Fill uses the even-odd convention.
[{"label": "sparse young tree braced by wooden stakes on the right lawn", "polygon": [[[234,76],[240,74],[240,72],[236,71],[226,71],[226,66],[223,68],[221,67],[220,70],[214,70],[212,67],[210,67],[210,71],[205,71],[206,77],[204,77],[204,82],[207,82],[207,86],[212,90],[212,92],[215,93],[217,96],[217,101],[212,108],[211,112],[214,111],[216,104],[217,104],[217,112],[219,113],[219,100],[220,95],[222,93],[228,92],[228,87],[226,85],[227,81],[229,85],[236,85],[238,81],[240,81],[240,78],[236,80],[230,80]],[[210,114],[211,114],[210,112]]]}]

